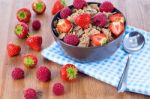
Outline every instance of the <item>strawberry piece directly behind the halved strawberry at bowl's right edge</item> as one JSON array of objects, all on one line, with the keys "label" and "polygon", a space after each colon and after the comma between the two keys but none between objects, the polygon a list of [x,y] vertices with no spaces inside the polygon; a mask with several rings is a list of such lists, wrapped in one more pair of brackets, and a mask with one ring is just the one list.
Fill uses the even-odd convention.
[{"label": "strawberry piece directly behind the halved strawberry at bowl's right edge", "polygon": [[125,21],[124,16],[121,13],[116,13],[116,14],[111,15],[109,17],[109,20],[111,22],[119,21],[119,22],[122,22],[122,23],[124,23],[124,21]]}]

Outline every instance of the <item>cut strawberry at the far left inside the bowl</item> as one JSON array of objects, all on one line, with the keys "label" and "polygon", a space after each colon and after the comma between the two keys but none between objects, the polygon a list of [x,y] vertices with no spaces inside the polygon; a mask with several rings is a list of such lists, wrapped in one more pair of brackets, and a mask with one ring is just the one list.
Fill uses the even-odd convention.
[{"label": "cut strawberry at the far left inside the bowl", "polygon": [[72,24],[67,19],[60,19],[57,23],[56,30],[60,33],[68,33],[72,28]]}]

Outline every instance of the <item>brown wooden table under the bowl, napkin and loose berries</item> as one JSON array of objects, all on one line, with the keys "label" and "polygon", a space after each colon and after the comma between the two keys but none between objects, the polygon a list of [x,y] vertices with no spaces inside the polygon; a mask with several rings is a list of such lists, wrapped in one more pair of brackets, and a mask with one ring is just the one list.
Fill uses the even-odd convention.
[{"label": "brown wooden table under the bowl, napkin and loose berries", "polygon": [[[36,16],[32,13],[32,19],[38,18],[42,22],[42,29],[37,33],[43,37],[43,48],[48,47],[53,38],[50,34],[50,10],[54,0],[44,0],[47,10],[44,15]],[[72,0],[66,0],[68,4]],[[96,0],[92,0],[96,1]],[[97,0],[102,1],[102,0]],[[104,0],[103,0],[104,1]],[[35,88],[42,92],[39,99],[149,99],[150,97],[135,93],[118,94],[116,88],[105,84],[84,74],[79,74],[75,82],[64,82],[59,76],[60,66],[56,63],[43,59],[40,53],[30,50],[25,46],[24,40],[19,40],[14,35],[14,26],[17,23],[16,10],[20,7],[31,9],[32,0],[0,0],[0,99],[23,99],[25,88]],[[133,25],[150,31],[150,0],[112,0],[113,4],[126,16],[129,25]],[[32,31],[32,30],[31,30]],[[22,46],[21,55],[33,53],[37,55],[38,65],[44,64],[52,72],[52,80],[41,83],[35,77],[35,69],[26,69],[21,62],[21,55],[9,58],[6,53],[8,42],[17,42]],[[14,81],[11,78],[13,67],[21,67],[25,70],[25,79]],[[53,95],[51,89],[55,82],[65,85],[65,94],[59,97]]]}]

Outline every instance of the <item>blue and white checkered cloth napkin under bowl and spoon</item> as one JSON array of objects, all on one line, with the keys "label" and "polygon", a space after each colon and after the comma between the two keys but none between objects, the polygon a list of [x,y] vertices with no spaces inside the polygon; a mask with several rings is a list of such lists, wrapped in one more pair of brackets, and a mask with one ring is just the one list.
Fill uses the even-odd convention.
[{"label": "blue and white checkered cloth napkin under bowl and spoon", "polygon": [[[131,31],[141,32],[145,36],[146,44],[142,50],[134,53],[131,58],[127,90],[150,95],[150,33],[127,26],[125,33]],[[48,60],[61,65],[67,63],[75,64],[79,71],[115,87],[118,85],[127,62],[127,54],[122,48],[103,61],[89,63],[78,63],[72,60],[64,54],[57,43],[53,43],[50,47],[43,50],[42,55]]]}]

